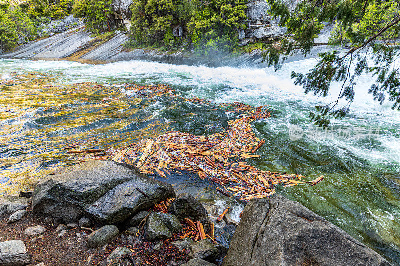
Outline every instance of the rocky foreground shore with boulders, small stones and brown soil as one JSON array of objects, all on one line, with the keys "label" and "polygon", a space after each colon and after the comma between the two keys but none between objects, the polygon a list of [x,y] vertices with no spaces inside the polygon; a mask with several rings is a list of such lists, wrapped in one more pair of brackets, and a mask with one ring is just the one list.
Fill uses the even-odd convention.
[{"label": "rocky foreground shore with boulders, small stones and brown soil", "polygon": [[[250,200],[237,229],[207,209],[131,166],[82,162],[0,196],[0,265],[390,265],[280,195]],[[229,247],[217,229],[235,230]]]}]

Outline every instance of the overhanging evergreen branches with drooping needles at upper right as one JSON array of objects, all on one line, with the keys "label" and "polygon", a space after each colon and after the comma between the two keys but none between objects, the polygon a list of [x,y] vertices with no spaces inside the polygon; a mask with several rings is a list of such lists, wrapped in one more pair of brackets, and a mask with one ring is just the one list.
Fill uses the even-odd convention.
[{"label": "overhanging evergreen branches with drooping needles at upper right", "polygon": [[289,12],[280,0],[268,3],[269,13],[280,16],[281,26],[287,28],[284,36],[266,46],[264,60],[269,66],[279,69],[288,56],[310,53],[321,22],[335,20],[330,44],[350,48],[344,53],[320,53],[318,63],[308,73],[291,74],[305,94],[326,97],[332,82],[340,84],[336,100],[316,106],[317,112],[309,114],[316,125],[326,128],[331,118],[343,118],[349,112],[357,77],[366,72],[376,76],[376,83],[368,91],[373,98],[383,103],[388,96],[392,108],[400,111],[400,69],[393,67],[400,57],[398,43],[393,39],[400,32],[398,0],[308,0],[298,4],[294,12]]}]

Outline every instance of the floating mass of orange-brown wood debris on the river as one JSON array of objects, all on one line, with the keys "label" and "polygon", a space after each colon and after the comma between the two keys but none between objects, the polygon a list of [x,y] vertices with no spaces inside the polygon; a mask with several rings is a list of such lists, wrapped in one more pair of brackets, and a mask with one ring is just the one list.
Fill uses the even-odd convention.
[{"label": "floating mass of orange-brown wood debris on the river", "polygon": [[[167,94],[167,97],[180,98],[171,94],[172,90],[166,85],[132,86],[137,97],[151,98]],[[261,171],[244,162],[245,159],[258,158],[255,152],[265,144],[265,140],[256,137],[251,122],[270,117],[264,107],[253,107],[244,103],[216,104],[208,100],[193,97],[185,99],[211,107],[226,108],[235,112],[241,118],[228,121],[228,128],[209,136],[196,136],[190,133],[169,131],[155,138],[142,139],[121,149],[108,150],[86,155],[84,159],[110,159],[137,167],[142,173],[157,174],[162,178],[185,172],[197,173],[199,178],[211,180],[217,185],[217,190],[226,196],[239,197],[242,201],[252,198],[264,198],[275,193],[275,186],[284,187],[309,183],[314,185],[323,179],[304,181],[299,174],[280,174]],[[209,125],[208,125],[209,126]],[[72,144],[73,145],[73,144]],[[70,145],[69,147],[71,147]],[[67,148],[69,148],[67,147]],[[80,152],[93,152],[92,150]],[[74,153],[75,151],[68,151]],[[101,155],[101,157],[96,157]]]}]

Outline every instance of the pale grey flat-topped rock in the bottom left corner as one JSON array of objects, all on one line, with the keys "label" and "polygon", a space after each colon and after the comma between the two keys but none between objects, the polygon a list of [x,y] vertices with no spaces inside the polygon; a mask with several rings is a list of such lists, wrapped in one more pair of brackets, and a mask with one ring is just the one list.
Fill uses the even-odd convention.
[{"label": "pale grey flat-topped rock in the bottom left corner", "polygon": [[0,242],[0,265],[20,266],[31,263],[26,246],[22,240]]}]

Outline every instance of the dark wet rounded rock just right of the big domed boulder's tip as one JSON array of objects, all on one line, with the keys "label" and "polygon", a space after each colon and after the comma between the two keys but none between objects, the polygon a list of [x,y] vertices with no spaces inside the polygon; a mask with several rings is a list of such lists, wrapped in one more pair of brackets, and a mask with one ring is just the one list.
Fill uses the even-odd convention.
[{"label": "dark wet rounded rock just right of the big domed boulder's tip", "polygon": [[190,218],[193,221],[199,221],[208,216],[204,206],[188,193],[179,194],[171,204],[169,212],[180,220]]}]

